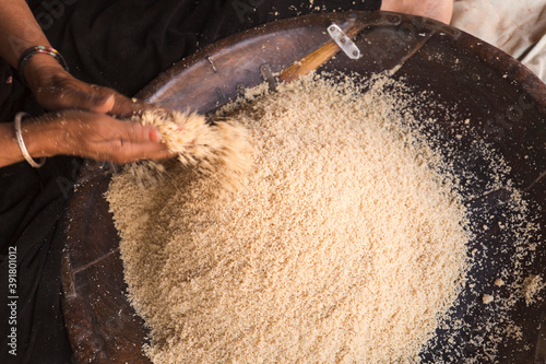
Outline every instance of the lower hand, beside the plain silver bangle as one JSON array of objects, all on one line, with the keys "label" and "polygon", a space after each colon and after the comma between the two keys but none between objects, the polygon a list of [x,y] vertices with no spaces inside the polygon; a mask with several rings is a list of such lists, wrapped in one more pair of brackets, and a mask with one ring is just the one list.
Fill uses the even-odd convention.
[{"label": "lower hand, beside the plain silver bangle", "polygon": [[36,157],[68,154],[123,164],[174,156],[155,128],[105,114],[75,109],[46,114],[25,120],[24,132],[28,152]]}]

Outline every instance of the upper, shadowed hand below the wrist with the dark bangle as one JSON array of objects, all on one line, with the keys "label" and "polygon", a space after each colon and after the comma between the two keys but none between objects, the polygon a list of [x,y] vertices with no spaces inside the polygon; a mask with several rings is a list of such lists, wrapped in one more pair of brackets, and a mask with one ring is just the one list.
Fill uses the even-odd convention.
[{"label": "upper, shadowed hand below the wrist with the dark bangle", "polygon": [[25,80],[38,103],[48,110],[82,110],[129,117],[149,107],[103,86],[87,84],[67,72],[55,58],[35,55],[25,66]]}]

